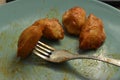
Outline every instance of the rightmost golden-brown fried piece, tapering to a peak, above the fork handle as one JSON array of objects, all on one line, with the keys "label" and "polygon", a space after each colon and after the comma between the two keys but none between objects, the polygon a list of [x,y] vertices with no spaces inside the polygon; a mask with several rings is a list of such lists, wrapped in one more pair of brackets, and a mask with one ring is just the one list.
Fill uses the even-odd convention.
[{"label": "rightmost golden-brown fried piece, tapering to a peak, above the fork handle", "polygon": [[90,14],[80,33],[81,49],[97,49],[105,41],[106,35],[101,19]]}]

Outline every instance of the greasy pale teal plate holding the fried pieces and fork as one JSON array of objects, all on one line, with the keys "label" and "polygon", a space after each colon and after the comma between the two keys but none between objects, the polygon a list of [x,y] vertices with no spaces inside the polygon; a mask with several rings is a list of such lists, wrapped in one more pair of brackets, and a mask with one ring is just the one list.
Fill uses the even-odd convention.
[{"label": "greasy pale teal plate holding the fried pieces and fork", "polygon": [[57,49],[73,53],[103,54],[120,59],[120,11],[96,0],[16,0],[0,6],[0,79],[1,80],[119,80],[120,68],[96,60],[77,59],[52,64],[31,55],[16,58],[21,32],[40,18],[56,17],[74,6],[84,8],[104,22],[107,39],[96,51],[79,50],[78,37],[65,35],[60,41],[45,42]]}]

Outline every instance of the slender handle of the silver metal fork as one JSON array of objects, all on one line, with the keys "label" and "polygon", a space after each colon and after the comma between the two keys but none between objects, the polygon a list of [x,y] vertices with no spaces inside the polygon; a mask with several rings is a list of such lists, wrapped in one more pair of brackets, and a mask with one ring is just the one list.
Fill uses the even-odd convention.
[{"label": "slender handle of the silver metal fork", "polygon": [[113,65],[116,65],[116,66],[119,66],[120,67],[120,60],[118,59],[113,59],[113,58],[108,58],[108,57],[105,57],[105,56],[95,56],[95,55],[74,55],[74,58],[73,59],[93,59],[93,60],[99,60],[99,61],[102,61],[102,62],[106,62],[106,63],[110,63],[110,64],[113,64]]}]

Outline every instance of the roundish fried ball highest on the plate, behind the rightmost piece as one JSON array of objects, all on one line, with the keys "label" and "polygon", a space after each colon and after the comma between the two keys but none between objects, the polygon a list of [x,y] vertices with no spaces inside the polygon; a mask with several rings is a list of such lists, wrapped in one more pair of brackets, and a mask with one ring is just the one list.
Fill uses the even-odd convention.
[{"label": "roundish fried ball highest on the plate, behind the rightmost piece", "polygon": [[62,16],[62,23],[66,31],[73,35],[79,35],[86,20],[86,12],[81,7],[73,7]]}]

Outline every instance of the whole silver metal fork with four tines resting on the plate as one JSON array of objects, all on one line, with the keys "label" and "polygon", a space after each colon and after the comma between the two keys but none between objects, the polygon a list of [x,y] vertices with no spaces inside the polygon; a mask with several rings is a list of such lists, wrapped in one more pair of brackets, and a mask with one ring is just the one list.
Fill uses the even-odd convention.
[{"label": "whole silver metal fork with four tines resting on the plate", "polygon": [[38,41],[35,48],[32,51],[37,56],[43,58],[46,61],[53,63],[61,63],[73,59],[92,59],[109,64],[113,64],[120,67],[120,60],[104,57],[103,55],[81,55],[81,54],[72,54],[68,50],[56,50],[55,48]]}]

